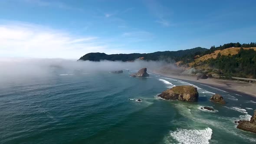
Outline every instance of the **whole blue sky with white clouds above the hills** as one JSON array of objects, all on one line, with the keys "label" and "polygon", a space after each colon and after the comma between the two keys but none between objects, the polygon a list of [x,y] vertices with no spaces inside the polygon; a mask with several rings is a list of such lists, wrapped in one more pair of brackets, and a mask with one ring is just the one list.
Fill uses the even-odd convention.
[{"label": "whole blue sky with white clouds above the hills", "polygon": [[256,42],[256,0],[0,0],[0,58]]}]

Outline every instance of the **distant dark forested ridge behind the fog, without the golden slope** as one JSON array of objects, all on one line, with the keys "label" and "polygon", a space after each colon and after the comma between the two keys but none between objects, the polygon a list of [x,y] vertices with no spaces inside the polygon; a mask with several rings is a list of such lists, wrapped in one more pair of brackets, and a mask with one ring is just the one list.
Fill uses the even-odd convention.
[{"label": "distant dark forested ridge behind the fog, without the golden slope", "polygon": [[178,50],[178,51],[164,51],[164,52],[153,52],[153,53],[131,53],[131,54],[112,54],[107,55],[105,53],[93,52],[87,53],[82,56],[79,60],[89,60],[89,61],[100,61],[100,60],[109,60],[109,61],[133,61],[135,59],[144,59],[144,60],[165,60],[165,61],[186,61],[189,59],[194,59],[194,56],[200,55],[203,52],[206,52],[209,49],[196,47],[193,49]]}]

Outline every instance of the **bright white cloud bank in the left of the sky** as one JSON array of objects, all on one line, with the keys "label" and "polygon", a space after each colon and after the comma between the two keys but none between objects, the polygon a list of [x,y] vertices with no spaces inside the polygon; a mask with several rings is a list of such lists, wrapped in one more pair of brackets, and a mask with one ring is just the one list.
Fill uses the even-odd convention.
[{"label": "bright white cloud bank in the left of the sky", "polygon": [[[27,23],[0,25],[0,57],[78,59],[89,52],[125,52],[97,36],[72,33]],[[113,48],[115,47],[115,48]]]}]

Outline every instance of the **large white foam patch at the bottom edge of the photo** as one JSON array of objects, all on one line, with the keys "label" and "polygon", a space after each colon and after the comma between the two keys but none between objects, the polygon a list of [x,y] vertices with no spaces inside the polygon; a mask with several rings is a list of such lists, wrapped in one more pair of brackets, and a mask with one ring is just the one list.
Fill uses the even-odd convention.
[{"label": "large white foam patch at the bottom edge of the photo", "polygon": [[206,128],[204,130],[177,129],[171,131],[170,135],[181,144],[209,144],[213,130]]}]

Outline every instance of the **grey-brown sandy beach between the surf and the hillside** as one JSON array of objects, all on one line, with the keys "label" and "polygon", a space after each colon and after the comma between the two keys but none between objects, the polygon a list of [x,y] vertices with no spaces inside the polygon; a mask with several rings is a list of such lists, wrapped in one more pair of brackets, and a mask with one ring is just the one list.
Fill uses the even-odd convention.
[{"label": "grey-brown sandy beach between the surf and the hillside", "polygon": [[248,83],[248,82],[242,82],[242,81],[236,81],[236,80],[214,79],[214,78],[197,80],[194,76],[178,75],[173,73],[161,72],[159,70],[154,70],[153,73],[158,75],[164,75],[166,77],[170,77],[174,79],[198,82],[198,83],[209,85],[225,91],[234,91],[234,92],[239,92],[242,94],[244,93],[244,94],[256,97],[255,83]]}]

